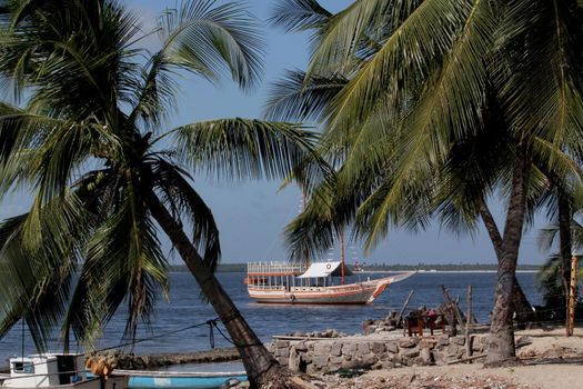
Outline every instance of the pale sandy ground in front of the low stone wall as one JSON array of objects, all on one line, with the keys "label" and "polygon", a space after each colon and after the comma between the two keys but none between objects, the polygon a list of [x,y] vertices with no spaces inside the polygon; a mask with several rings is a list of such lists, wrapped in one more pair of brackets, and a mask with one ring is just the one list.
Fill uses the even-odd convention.
[{"label": "pale sandy ground in front of the low stone wall", "polygon": [[336,389],[576,389],[583,388],[583,328],[565,337],[564,328],[516,331],[532,343],[517,350],[520,365],[484,368],[483,363],[403,367],[372,370],[360,377],[324,376],[324,387]]}]

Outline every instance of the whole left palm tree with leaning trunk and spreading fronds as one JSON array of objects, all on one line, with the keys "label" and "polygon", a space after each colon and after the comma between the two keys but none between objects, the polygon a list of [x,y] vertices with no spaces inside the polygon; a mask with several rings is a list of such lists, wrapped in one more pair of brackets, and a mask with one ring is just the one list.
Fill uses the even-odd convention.
[{"label": "whole left palm tree with leaning trunk and spreading fronds", "polygon": [[252,386],[284,381],[289,371],[214,277],[219,231],[187,169],[284,177],[314,137],[240,118],[164,128],[177,73],[214,81],[227,71],[243,89],[257,83],[254,19],[237,3],[185,1],[159,19],[162,46],[150,53],[138,47],[137,16],[117,1],[7,4],[0,73],[24,103],[0,104],[0,188],[2,196],[27,188],[34,199],[28,213],[0,225],[0,335],[24,318],[38,348],[59,327],[66,345],[74,336],[92,347],[125,301],[125,336],[133,338],[159,291],[168,295],[161,228],[232,337]]}]

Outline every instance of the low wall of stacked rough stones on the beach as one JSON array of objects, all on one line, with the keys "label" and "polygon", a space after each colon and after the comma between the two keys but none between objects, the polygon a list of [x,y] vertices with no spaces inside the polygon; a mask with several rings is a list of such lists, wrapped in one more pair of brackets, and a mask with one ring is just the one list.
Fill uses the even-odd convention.
[{"label": "low wall of stacked rough stones on the beach", "polygon": [[[472,337],[472,351],[485,349],[485,337]],[[388,369],[402,366],[444,365],[466,357],[464,337],[411,337],[366,340],[350,337],[331,340],[277,340],[271,352],[293,371],[325,373],[341,369]]]}]

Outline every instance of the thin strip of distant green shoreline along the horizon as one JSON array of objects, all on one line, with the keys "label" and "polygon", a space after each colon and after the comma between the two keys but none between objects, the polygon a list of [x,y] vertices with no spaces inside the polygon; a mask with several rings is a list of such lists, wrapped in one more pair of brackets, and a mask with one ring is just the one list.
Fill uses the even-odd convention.
[{"label": "thin strip of distant green shoreline along the horizon", "polygon": [[[382,265],[382,263],[362,263],[366,271],[401,271],[401,270],[436,270],[436,271],[483,271],[496,270],[495,263],[449,263],[449,265]],[[519,265],[517,270],[539,270],[540,265]],[[354,269],[353,266],[349,266]],[[172,271],[189,271],[185,266],[173,266]],[[220,263],[219,272],[244,272],[247,271],[247,263]]]}]

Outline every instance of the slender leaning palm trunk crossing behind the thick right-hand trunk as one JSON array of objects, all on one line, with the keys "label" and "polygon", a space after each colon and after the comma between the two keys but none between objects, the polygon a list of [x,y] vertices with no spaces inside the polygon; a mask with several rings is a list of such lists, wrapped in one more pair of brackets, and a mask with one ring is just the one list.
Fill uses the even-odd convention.
[{"label": "slender leaning palm trunk crossing behind the thick right-hand trunk", "polygon": [[[490,240],[492,240],[492,245],[494,246],[494,251],[496,253],[497,262],[500,263],[502,260],[502,237],[500,236],[500,231],[497,229],[496,222],[494,218],[492,217],[492,213],[490,212],[490,209],[487,208],[487,205],[482,199],[480,200],[480,216],[482,218],[482,221],[484,222],[484,226],[487,230],[487,233],[490,236]],[[512,302],[514,303],[514,310],[516,312],[516,320],[520,322],[524,322],[532,318],[532,305],[530,303],[529,299],[526,298],[526,295],[524,295],[524,291],[522,290],[522,287],[519,283],[519,280],[516,279],[516,276],[514,276],[514,288],[512,292]]]}]

